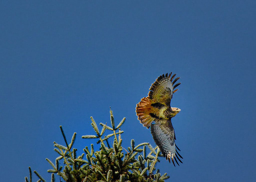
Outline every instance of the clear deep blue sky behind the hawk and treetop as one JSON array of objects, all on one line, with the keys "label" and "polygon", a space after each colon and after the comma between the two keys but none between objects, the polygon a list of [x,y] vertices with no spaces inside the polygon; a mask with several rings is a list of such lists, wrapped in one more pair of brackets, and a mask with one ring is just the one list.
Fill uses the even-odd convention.
[{"label": "clear deep blue sky behind the hawk and treetop", "polygon": [[[154,144],[136,104],[164,73],[180,76],[171,105],[184,157],[168,181],[256,180],[255,1],[1,1],[0,176],[46,180],[53,142],[93,140],[90,116],[126,117],[124,143]],[[36,177],[34,176],[36,181]]]}]

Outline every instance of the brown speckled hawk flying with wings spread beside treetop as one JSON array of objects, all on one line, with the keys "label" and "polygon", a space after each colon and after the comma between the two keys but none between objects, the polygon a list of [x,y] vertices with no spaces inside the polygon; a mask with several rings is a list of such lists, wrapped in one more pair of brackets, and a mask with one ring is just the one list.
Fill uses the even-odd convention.
[{"label": "brown speckled hawk flying with wings spread beside treetop", "polygon": [[172,96],[178,90],[174,89],[180,85],[180,83],[175,84],[180,78],[174,79],[175,76],[176,74],[172,75],[172,73],[159,76],[150,87],[148,96],[142,98],[136,106],[138,120],[143,126],[151,127],[154,141],[166,160],[170,162],[172,159],[174,166],[174,160],[179,165],[176,158],[182,163],[180,160],[182,156],[178,153],[180,149],[175,144],[175,132],[171,121],[180,112],[179,108],[170,106]]}]

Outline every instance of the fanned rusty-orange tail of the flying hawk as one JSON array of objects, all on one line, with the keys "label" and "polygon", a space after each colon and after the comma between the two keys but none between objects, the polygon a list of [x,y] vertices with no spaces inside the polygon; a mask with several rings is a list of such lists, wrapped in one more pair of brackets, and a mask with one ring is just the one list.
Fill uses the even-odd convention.
[{"label": "fanned rusty-orange tail of the flying hawk", "polygon": [[151,100],[149,97],[144,97],[137,104],[136,114],[138,116],[138,120],[143,126],[149,128],[150,124],[154,121],[155,118],[152,117],[152,113],[155,113],[156,108],[152,106],[155,102]]}]

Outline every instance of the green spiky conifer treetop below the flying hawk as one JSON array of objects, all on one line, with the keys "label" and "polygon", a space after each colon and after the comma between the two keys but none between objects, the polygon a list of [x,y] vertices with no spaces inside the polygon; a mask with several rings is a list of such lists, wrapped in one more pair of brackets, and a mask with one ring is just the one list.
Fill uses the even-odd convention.
[{"label": "green spiky conifer treetop below the flying hawk", "polygon": [[[72,148],[76,140],[76,133],[73,134],[70,144],[66,139],[62,126],[60,130],[65,141],[65,145],[54,142],[54,151],[59,154],[55,164],[46,158],[51,169],[51,182],[56,181],[56,175],[61,182],[164,182],[169,176],[165,173],[161,175],[156,170],[156,163],[160,162],[159,156],[162,156],[159,148],[152,147],[149,143],[135,145],[134,139],[131,140],[131,146],[127,149],[122,147],[121,126],[126,118],[123,118],[115,126],[114,116],[110,109],[110,124],[100,123],[99,130],[95,120],[91,117],[91,125],[95,135],[84,135],[84,139],[97,139],[100,144],[100,150],[94,151],[94,144],[91,144],[90,150],[86,146],[84,153],[77,156],[76,148]],[[104,135],[106,130],[111,134]],[[112,139],[112,140],[110,140]],[[110,141],[111,142],[110,142]],[[147,154],[146,149],[149,149]],[[64,166],[61,166],[64,164]],[[32,182],[32,171],[29,167],[30,176],[25,177],[25,182]],[[34,171],[39,178],[38,182],[46,182],[38,172]]]}]

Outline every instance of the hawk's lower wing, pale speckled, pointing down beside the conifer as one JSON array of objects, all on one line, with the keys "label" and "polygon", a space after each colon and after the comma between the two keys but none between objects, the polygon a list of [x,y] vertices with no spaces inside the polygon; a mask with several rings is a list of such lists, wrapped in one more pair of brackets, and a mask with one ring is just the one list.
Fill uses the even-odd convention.
[{"label": "hawk's lower wing, pale speckled, pointing down beside the conifer", "polygon": [[[178,149],[178,147],[175,145],[176,138],[171,121],[155,120],[155,124],[151,124],[151,134],[166,160],[169,160],[170,162],[170,159],[172,159],[172,163],[174,164],[174,166],[174,160],[178,165],[179,163],[177,159],[182,163],[182,161],[180,160],[182,156],[180,156],[180,154],[176,150],[176,148]],[[178,156],[180,156],[180,158]]]}]

